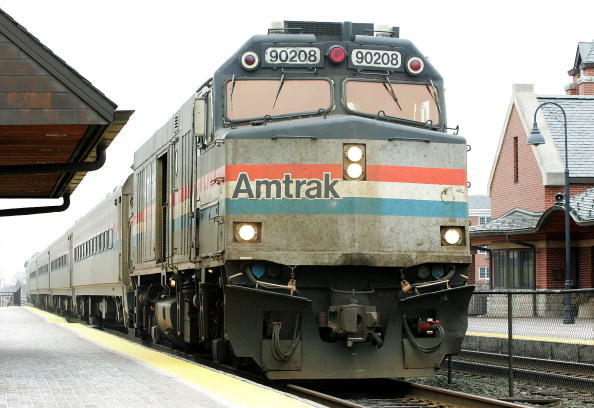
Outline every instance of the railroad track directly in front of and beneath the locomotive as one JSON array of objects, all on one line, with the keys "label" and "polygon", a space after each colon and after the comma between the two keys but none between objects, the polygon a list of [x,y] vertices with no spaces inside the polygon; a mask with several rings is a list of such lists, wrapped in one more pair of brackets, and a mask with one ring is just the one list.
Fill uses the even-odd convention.
[{"label": "railroad track directly in front of and beneath the locomotive", "polygon": [[318,381],[286,387],[292,394],[332,408],[527,407],[393,379]]}]

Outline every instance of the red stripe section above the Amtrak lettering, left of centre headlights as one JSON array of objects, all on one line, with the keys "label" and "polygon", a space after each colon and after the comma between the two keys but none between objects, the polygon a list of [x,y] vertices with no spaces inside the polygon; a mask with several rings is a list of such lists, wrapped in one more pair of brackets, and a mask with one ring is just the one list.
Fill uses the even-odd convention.
[{"label": "red stripe section above the Amtrak lettering, left of centre headlights", "polygon": [[225,181],[235,181],[239,173],[248,173],[250,180],[282,179],[285,174],[293,178],[322,178],[330,173],[331,178],[342,178],[341,164],[229,164]]}]

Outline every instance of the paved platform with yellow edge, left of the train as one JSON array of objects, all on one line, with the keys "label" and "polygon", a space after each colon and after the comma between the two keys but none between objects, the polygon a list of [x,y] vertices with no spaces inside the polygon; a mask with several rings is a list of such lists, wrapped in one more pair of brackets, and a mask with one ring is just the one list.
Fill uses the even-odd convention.
[{"label": "paved platform with yellow edge, left of the train", "polygon": [[0,327],[0,408],[319,407],[36,308]]}]

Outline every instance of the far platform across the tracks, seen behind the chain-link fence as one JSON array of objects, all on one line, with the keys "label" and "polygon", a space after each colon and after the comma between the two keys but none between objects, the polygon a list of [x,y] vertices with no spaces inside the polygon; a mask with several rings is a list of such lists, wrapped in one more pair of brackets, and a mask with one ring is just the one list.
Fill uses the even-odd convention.
[{"label": "far platform across the tracks, seen behind the chain-link fence", "polygon": [[[514,354],[549,360],[594,363],[594,319],[563,324],[560,318],[514,317]],[[505,317],[471,316],[462,349],[507,353]]]}]

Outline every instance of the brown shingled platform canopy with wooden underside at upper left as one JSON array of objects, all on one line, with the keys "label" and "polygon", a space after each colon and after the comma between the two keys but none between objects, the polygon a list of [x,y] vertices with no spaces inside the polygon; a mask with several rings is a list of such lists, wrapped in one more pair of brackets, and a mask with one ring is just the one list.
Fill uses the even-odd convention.
[{"label": "brown shingled platform canopy with wooden underside at upper left", "polygon": [[67,198],[132,114],[116,108],[0,10],[0,198]]}]

